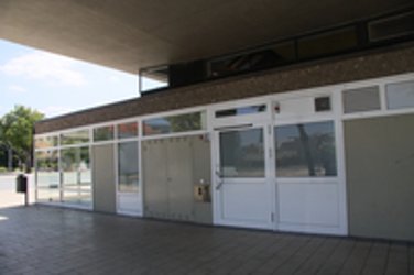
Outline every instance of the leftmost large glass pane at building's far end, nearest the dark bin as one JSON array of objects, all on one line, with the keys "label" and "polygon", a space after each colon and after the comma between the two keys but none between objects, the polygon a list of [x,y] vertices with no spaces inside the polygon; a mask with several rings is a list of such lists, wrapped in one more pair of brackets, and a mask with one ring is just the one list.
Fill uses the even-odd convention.
[{"label": "leftmost large glass pane at building's far end, nearest the dark bin", "polygon": [[57,150],[36,152],[35,158],[37,187],[59,188]]}]

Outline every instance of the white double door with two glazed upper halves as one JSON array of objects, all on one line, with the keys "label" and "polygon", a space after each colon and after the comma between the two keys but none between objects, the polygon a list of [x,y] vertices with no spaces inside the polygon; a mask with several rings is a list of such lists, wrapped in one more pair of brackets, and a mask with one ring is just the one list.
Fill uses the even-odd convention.
[{"label": "white double door with two glazed upper halves", "polygon": [[216,129],[215,223],[346,234],[338,136],[331,120]]}]

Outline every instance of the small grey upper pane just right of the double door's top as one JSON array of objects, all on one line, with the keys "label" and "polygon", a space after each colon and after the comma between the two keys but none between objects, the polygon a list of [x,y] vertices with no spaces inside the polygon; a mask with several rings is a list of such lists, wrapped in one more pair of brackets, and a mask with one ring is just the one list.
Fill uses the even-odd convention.
[{"label": "small grey upper pane just right of the double door's top", "polygon": [[378,86],[344,90],[344,113],[366,112],[381,109]]}]

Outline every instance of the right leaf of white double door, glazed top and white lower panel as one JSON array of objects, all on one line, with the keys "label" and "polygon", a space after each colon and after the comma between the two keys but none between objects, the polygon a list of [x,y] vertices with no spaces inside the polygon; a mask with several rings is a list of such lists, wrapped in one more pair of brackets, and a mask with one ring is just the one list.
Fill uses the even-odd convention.
[{"label": "right leaf of white double door, glazed top and white lower panel", "polygon": [[329,119],[274,128],[280,230],[346,233],[337,129]]}]

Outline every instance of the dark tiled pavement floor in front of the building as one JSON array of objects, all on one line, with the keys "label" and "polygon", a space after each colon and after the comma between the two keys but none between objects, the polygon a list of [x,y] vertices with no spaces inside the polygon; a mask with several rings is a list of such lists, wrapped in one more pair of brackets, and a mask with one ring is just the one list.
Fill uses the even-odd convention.
[{"label": "dark tiled pavement floor in front of the building", "polygon": [[414,274],[414,244],[0,209],[0,274]]}]

